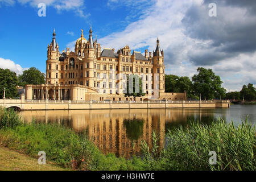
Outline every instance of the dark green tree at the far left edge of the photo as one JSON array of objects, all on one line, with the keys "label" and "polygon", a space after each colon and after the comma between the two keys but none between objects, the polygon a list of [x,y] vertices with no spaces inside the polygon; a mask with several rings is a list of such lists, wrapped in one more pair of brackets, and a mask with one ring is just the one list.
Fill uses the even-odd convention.
[{"label": "dark green tree at the far left edge of the photo", "polygon": [[3,98],[3,89],[5,88],[5,97],[14,98],[18,96],[18,78],[15,72],[10,69],[0,68],[0,98]]}]

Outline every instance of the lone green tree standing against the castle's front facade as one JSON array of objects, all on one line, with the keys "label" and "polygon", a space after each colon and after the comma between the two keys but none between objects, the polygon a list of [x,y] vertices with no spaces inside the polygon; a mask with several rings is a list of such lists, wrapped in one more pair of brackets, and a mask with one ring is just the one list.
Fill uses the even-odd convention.
[{"label": "lone green tree standing against the castle's front facade", "polygon": [[[133,96],[134,100],[136,97],[142,97],[145,96],[145,93],[143,93],[142,89],[142,80],[138,75],[130,75],[129,78],[133,78],[133,88],[130,88],[129,90],[129,80],[127,81],[126,85],[126,93],[125,97]],[[139,89],[139,90],[138,90]]]}]

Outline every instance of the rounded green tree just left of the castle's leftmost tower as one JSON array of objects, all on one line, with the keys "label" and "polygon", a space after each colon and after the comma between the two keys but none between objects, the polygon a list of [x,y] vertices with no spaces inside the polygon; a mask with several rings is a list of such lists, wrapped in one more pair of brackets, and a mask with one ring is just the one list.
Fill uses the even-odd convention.
[{"label": "rounded green tree just left of the castle's leftmost tower", "polygon": [[18,81],[20,86],[25,86],[27,84],[41,85],[46,83],[44,73],[41,73],[35,67],[23,71],[22,75],[18,76]]}]

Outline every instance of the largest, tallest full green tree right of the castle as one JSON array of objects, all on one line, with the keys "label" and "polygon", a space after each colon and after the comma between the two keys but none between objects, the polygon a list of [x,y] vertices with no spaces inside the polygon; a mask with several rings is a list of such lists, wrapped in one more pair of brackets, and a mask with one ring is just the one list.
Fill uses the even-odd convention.
[{"label": "largest, tallest full green tree right of the castle", "polygon": [[221,87],[223,83],[220,76],[215,75],[212,69],[197,68],[198,75],[192,77],[193,90],[201,98],[212,100],[213,98],[225,98],[226,90]]}]

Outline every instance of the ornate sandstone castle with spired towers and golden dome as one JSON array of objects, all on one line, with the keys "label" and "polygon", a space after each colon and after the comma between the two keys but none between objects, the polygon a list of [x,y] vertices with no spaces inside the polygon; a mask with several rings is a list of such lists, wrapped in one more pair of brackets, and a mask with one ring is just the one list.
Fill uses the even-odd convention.
[{"label": "ornate sandstone castle with spired towers and golden dome", "polygon": [[128,101],[125,97],[127,80],[138,75],[142,80],[145,96],[136,100],[185,100],[185,93],[165,93],[164,52],[159,39],[156,49],[144,56],[125,46],[115,49],[104,48],[93,40],[92,27],[88,40],[81,36],[75,44],[75,52],[67,48],[59,52],[56,33],[47,47],[46,84],[26,85],[26,100],[73,100],[73,101]]}]

